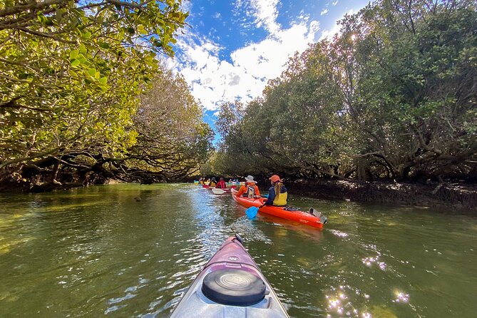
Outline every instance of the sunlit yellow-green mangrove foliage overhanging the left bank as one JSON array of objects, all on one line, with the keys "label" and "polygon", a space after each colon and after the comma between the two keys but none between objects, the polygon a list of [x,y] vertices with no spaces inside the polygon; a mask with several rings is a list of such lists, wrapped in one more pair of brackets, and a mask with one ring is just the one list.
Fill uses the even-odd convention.
[{"label": "sunlit yellow-green mangrove foliage overhanging the left bank", "polygon": [[181,0],[0,1],[0,180],[125,158],[187,16]]}]

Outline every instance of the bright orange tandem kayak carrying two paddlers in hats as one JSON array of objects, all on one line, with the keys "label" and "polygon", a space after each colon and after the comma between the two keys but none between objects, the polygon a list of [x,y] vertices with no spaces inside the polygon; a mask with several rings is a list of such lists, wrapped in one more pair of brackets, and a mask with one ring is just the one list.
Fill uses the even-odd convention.
[{"label": "bright orange tandem kayak carrying two paddlers in hats", "polygon": [[[266,198],[242,198],[242,197],[237,197],[235,195],[237,191],[232,190],[232,198],[235,200],[240,205],[243,205],[244,207],[260,207],[267,199]],[[321,229],[323,227],[324,222],[326,222],[326,218],[324,219],[325,221],[322,222],[322,219],[319,217],[316,217],[312,214],[309,214],[307,212],[303,211],[291,211],[291,210],[285,210],[287,207],[275,207],[272,205],[265,205],[265,207],[261,207],[258,212],[260,213],[265,213],[268,215],[274,215],[276,217],[281,217],[282,219],[286,220],[292,220],[295,222],[300,222],[304,225],[309,225],[312,227],[317,227]]]}]

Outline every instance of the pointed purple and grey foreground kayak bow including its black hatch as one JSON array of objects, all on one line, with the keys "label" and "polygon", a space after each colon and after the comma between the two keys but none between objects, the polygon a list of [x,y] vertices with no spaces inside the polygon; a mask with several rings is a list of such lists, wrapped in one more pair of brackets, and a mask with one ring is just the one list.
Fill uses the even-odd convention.
[{"label": "pointed purple and grey foreground kayak bow including its black hatch", "polygon": [[170,318],[287,318],[270,283],[242,245],[229,237],[180,300]]}]

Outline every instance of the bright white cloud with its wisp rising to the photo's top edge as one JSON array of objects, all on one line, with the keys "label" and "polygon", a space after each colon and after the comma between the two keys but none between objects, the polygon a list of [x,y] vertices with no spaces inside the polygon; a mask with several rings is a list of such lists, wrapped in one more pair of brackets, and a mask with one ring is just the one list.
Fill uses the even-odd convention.
[{"label": "bright white cloud with its wisp rising to the photo's top edge", "polygon": [[[227,52],[203,35],[186,34],[178,39],[178,57],[170,65],[182,73],[193,96],[205,109],[213,111],[235,99],[247,103],[262,95],[267,81],[284,71],[288,58],[296,51],[302,52],[309,43],[339,33],[340,27],[335,22],[332,29],[319,34],[319,21],[304,13],[288,29],[283,29],[276,21],[278,1],[235,2],[235,18],[241,19],[237,23],[248,28],[263,27],[268,32],[265,39],[244,44],[235,51]],[[326,13],[327,9],[322,11],[322,15]],[[352,13],[353,10],[347,12]],[[247,16],[244,18],[243,14]],[[226,60],[223,53],[229,54]]]}]

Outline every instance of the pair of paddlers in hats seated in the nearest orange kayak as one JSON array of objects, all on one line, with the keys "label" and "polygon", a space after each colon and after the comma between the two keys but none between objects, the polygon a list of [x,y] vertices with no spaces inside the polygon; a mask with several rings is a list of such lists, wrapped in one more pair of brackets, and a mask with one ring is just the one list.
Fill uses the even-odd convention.
[{"label": "pair of paddlers in hats seated in the nearest orange kayak", "polygon": [[[287,205],[287,188],[283,185],[283,181],[278,175],[272,175],[270,178],[272,186],[268,189],[268,199],[264,205],[275,205],[277,207],[284,207]],[[253,180],[252,175],[245,177],[245,185],[242,185],[237,192],[239,197],[260,198],[260,190],[257,187],[257,181]]]}]

